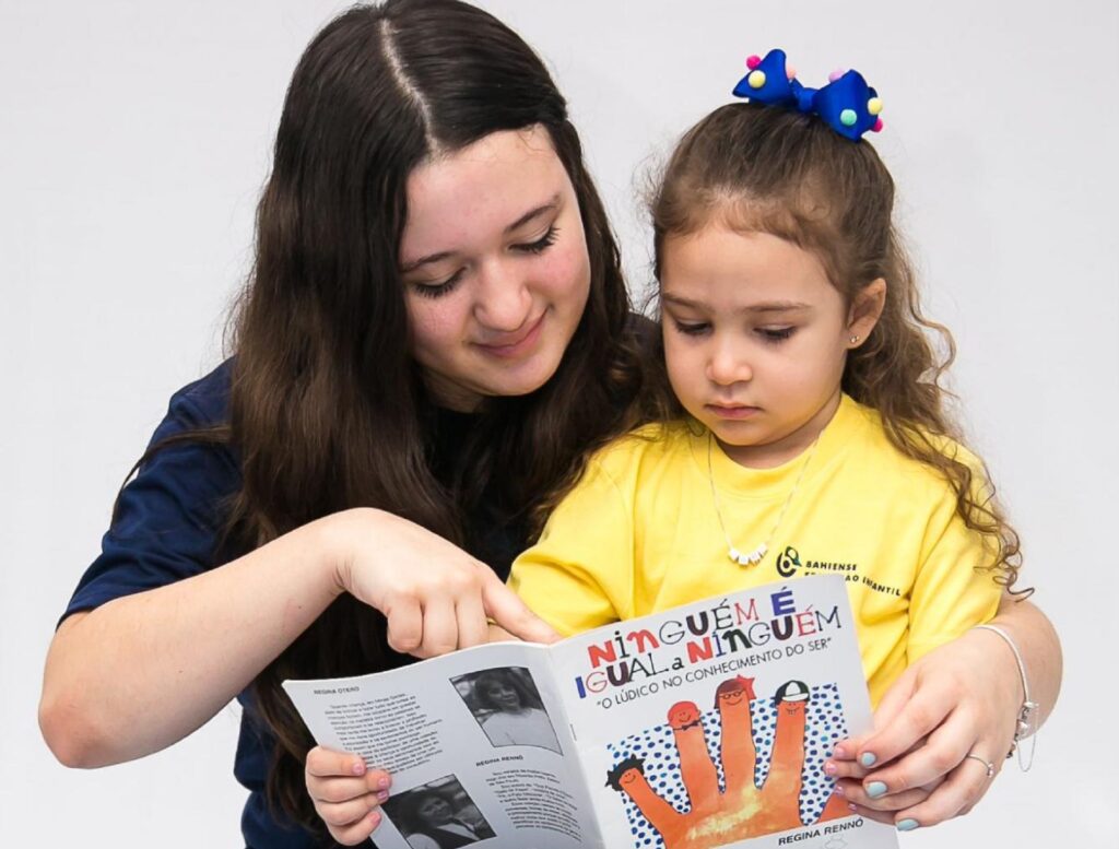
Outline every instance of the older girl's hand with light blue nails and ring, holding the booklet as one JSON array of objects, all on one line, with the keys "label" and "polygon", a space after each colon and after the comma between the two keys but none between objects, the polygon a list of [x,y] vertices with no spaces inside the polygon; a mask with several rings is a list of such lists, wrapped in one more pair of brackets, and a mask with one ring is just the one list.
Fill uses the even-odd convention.
[{"label": "older girl's hand with light blue nails and ring, holding the booklet", "polygon": [[876,730],[841,740],[825,771],[858,813],[906,830],[934,826],[982,799],[1022,700],[1009,648],[989,631],[969,631],[905,670],[875,711]]}]

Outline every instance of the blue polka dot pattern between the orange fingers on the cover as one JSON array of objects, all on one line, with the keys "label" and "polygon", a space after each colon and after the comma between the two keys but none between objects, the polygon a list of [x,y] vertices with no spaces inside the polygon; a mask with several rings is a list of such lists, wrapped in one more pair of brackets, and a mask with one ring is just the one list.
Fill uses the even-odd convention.
[{"label": "blue polka dot pattern between the orange fingers on the cover", "polygon": [[[754,747],[758,752],[754,783],[761,786],[769,775],[777,730],[777,708],[773,698],[764,697],[751,701],[750,716],[753,724]],[[720,787],[724,787],[723,764],[718,756],[723,738],[718,710],[707,710],[699,719],[707,737],[707,752],[718,771]],[[834,683],[812,687],[805,725],[805,766],[800,774],[801,822],[815,822],[824,812],[824,805],[827,804],[835,786],[835,782],[824,774],[824,762],[831,754],[835,744],[846,736],[847,724],[844,720],[843,702],[839,700],[839,688]],[[627,757],[645,758],[645,775],[649,785],[680,813],[690,810],[688,794],[680,777],[679,754],[668,723],[630,735],[618,743],[609,743],[606,751],[610,752],[615,766]],[[633,834],[633,846],[664,847],[660,833],[649,824],[630,798],[624,793],[619,793],[618,798],[626,806],[626,817]]]}]

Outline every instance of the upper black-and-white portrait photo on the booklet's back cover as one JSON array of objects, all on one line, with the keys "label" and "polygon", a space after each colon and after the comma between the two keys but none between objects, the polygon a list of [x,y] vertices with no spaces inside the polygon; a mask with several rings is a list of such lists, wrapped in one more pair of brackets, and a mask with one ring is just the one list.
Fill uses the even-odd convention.
[{"label": "upper black-and-white portrait photo on the booklet's back cover", "polygon": [[538,746],[563,754],[525,667],[485,669],[452,678],[451,683],[493,746]]}]

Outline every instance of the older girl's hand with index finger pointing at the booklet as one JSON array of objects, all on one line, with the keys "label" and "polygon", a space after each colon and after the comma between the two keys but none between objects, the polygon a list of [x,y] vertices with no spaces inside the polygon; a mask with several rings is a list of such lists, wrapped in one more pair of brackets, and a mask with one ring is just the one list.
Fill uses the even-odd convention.
[{"label": "older girl's hand with index finger pointing at the booklet", "polygon": [[558,639],[492,569],[442,537],[380,510],[331,519],[338,586],[385,614],[395,651],[431,658],[479,645],[488,619],[521,640]]}]

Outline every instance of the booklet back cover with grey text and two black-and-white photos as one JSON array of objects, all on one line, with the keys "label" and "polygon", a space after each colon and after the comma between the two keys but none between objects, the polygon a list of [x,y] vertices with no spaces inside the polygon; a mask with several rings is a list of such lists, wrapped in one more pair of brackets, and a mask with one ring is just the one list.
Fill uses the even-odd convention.
[{"label": "booklet back cover with grey text and two black-and-white photos", "polygon": [[602,846],[544,647],[496,643],[284,689],[320,745],[392,774],[380,849]]}]

